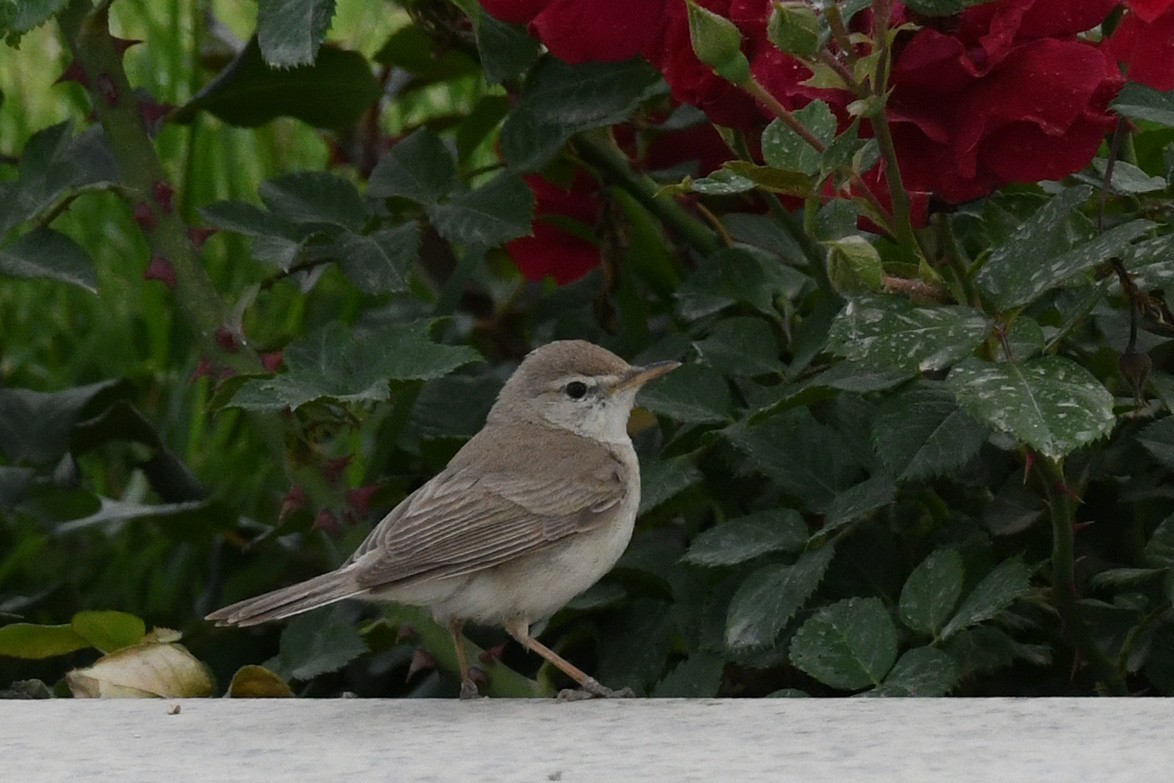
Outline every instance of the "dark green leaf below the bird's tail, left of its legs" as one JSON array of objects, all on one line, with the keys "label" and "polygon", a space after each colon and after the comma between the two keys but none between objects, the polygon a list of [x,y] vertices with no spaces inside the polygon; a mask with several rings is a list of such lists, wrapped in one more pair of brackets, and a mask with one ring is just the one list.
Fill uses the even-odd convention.
[{"label": "dark green leaf below the bird's tail, left of its legs", "polygon": [[302,614],[285,626],[277,657],[265,668],[286,680],[312,680],[337,671],[367,652],[363,636],[336,610]]}]

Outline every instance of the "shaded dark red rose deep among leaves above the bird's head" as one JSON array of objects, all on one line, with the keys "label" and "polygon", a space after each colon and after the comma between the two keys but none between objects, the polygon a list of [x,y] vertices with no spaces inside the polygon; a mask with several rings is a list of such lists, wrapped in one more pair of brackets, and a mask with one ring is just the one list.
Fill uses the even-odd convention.
[{"label": "shaded dark red rose deep among leaves above the bird's head", "polygon": [[[553,277],[559,285],[573,283],[599,266],[599,248],[583,238],[599,220],[599,184],[583,171],[576,171],[571,185],[564,188],[549,180],[531,175],[526,184],[534,191],[533,235],[506,244],[522,277],[542,281]],[[581,231],[567,230],[579,224]]]}]

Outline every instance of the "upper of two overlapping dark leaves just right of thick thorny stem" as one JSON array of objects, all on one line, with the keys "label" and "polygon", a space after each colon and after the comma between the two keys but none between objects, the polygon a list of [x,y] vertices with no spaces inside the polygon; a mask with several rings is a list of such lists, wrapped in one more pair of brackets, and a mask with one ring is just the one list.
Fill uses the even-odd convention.
[{"label": "upper of two overlapping dark leaves just right of thick thorny stem", "polygon": [[269,211],[290,223],[359,231],[365,211],[355,185],[329,171],[297,171],[261,183]]}]

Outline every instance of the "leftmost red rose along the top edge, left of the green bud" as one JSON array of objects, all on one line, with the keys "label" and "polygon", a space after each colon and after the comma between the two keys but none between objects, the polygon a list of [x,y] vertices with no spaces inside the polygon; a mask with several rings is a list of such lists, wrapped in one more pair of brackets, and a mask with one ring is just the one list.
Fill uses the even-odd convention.
[{"label": "leftmost red rose along the top edge, left of the green bud", "polygon": [[[504,21],[528,25],[565,62],[619,62],[647,47],[660,31],[666,0],[484,0]],[[683,1],[681,6],[683,7]]]}]

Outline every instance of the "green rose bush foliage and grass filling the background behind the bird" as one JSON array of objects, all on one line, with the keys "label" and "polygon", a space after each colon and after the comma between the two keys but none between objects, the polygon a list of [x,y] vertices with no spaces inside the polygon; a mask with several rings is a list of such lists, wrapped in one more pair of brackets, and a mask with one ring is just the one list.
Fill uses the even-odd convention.
[{"label": "green rose bush foliage and grass filling the background behind the bird", "polygon": [[[544,635],[608,686],[1174,693],[1174,99],[1126,88],[1114,178],[1106,149],[1067,182],[938,215],[918,258],[824,203],[816,182],[845,163],[783,133],[765,167],[634,169],[608,128],[660,131],[646,63],[559,63],[472,2],[275,5],[258,21],[119,0],[107,28],[88,2],[29,2],[46,23],[0,53],[11,693],[65,694],[100,655],[176,641],[141,640],[158,627],[216,693],[454,694],[447,634],[419,610],[201,617],[339,563],[477,431],[520,357],[564,337],[688,363],[633,421],[629,551]],[[151,144],[97,130],[134,116],[127,101],[55,83],[77,31],[115,67],[107,29],[144,41],[129,83],[183,107],[154,139],[166,193],[110,157]],[[521,175],[572,163],[606,200],[601,268],[526,282],[501,251],[529,232]],[[780,182],[805,189],[801,209]],[[193,250],[189,225],[220,231]],[[161,269],[174,288],[144,279]],[[256,663],[277,679],[241,669]],[[561,684],[515,646],[480,667],[490,694]]]}]

